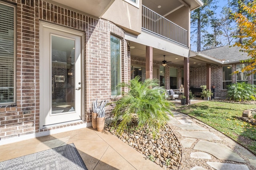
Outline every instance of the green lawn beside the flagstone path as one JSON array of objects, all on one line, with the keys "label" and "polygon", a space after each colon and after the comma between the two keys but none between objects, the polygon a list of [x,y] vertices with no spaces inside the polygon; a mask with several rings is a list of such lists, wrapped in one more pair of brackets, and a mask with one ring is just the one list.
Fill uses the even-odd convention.
[{"label": "green lawn beside the flagstone path", "polygon": [[252,108],[256,108],[256,104],[208,101],[180,106],[177,111],[199,119],[256,154],[256,126],[238,119],[244,110]]}]

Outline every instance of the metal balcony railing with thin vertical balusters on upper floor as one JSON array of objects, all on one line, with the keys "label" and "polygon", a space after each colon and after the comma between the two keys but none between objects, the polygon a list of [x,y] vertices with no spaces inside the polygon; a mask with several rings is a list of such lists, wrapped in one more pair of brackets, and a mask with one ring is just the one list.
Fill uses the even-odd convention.
[{"label": "metal balcony railing with thin vertical balusters on upper floor", "polygon": [[188,47],[188,31],[142,5],[142,29]]}]

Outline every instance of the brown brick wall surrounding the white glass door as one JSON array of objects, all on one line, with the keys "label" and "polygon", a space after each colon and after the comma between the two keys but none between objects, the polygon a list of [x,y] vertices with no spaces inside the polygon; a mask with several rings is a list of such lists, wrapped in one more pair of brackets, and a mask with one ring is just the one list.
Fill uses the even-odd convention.
[{"label": "brown brick wall surrounding the white glass door", "polygon": [[[2,2],[2,1],[1,1]],[[91,104],[110,100],[110,34],[121,39],[122,81],[130,80],[130,53],[124,30],[110,21],[96,20],[85,14],[42,0],[7,0],[16,3],[16,104],[0,106],[0,139],[38,133],[88,123]],[[13,3],[12,3],[13,4]],[[58,24],[85,33],[83,59],[84,122],[40,129],[40,21]],[[127,89],[126,89],[127,90]],[[107,109],[111,109],[108,106]],[[31,114],[23,115],[22,111]]]}]

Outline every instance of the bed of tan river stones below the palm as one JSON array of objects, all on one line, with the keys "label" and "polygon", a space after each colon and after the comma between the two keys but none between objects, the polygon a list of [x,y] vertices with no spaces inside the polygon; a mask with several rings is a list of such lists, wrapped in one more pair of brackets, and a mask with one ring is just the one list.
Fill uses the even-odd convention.
[{"label": "bed of tan river stones below the palm", "polygon": [[169,125],[160,130],[160,137],[153,139],[148,127],[128,128],[122,135],[110,125],[105,130],[109,131],[121,141],[130,145],[149,160],[155,162],[166,170],[178,170],[181,162],[181,145]]}]

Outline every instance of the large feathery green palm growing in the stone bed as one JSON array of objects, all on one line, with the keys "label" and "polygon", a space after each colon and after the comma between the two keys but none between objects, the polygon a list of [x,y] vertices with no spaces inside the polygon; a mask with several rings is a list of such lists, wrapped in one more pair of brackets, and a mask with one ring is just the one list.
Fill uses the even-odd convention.
[{"label": "large feathery green palm growing in the stone bed", "polygon": [[122,98],[116,102],[113,109],[117,131],[124,129],[136,119],[138,127],[148,126],[153,137],[158,137],[158,132],[169,120],[168,113],[175,106],[165,98],[165,88],[158,86],[157,79],[146,79],[140,82],[140,76],[130,80],[130,84],[121,83],[121,87],[128,87],[128,93],[123,93]]}]

